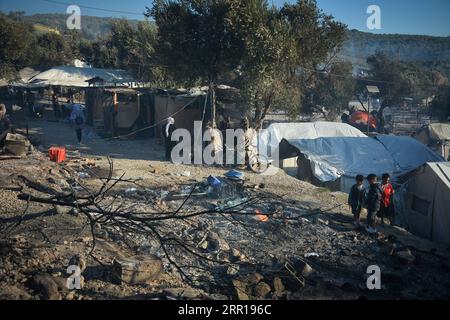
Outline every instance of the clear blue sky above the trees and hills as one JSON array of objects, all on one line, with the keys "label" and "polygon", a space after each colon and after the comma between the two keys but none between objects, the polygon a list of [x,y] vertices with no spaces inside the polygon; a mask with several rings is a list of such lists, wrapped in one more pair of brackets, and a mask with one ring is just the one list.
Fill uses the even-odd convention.
[{"label": "clear blue sky above the trees and hills", "polygon": [[[277,6],[295,0],[269,0]],[[450,0],[317,0],[319,7],[349,29],[373,33],[450,36]],[[102,17],[143,19],[145,7],[152,0],[0,0],[0,11],[65,13],[68,4],[78,4],[81,14]],[[367,8],[377,5],[381,29],[369,30]],[[103,10],[99,10],[103,9]],[[110,11],[108,11],[110,10]]]}]

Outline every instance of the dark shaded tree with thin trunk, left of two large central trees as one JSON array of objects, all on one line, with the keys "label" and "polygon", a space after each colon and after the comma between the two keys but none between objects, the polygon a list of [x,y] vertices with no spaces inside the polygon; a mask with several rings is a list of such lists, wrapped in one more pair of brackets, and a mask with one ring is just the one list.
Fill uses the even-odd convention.
[{"label": "dark shaded tree with thin trunk, left of two large central trees", "polygon": [[209,86],[213,126],[216,86],[241,61],[242,43],[230,19],[239,5],[239,0],[156,0],[147,8],[158,27],[161,64],[180,83]]}]

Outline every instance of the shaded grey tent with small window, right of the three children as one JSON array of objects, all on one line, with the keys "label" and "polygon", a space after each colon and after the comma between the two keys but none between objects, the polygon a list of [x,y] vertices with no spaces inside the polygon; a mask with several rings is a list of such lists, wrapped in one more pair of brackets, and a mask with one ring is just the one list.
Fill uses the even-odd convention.
[{"label": "shaded grey tent with small window, right of the three children", "polygon": [[410,232],[450,244],[450,162],[426,163],[403,177],[396,213]]}]

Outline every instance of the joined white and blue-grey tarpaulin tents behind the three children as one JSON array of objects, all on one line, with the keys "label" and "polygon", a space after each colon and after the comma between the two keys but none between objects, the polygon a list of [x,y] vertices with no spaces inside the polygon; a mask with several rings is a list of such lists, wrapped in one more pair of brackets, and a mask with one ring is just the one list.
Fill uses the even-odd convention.
[{"label": "joined white and blue-grey tarpaulin tents behind the three children", "polygon": [[295,159],[296,172],[291,173],[297,177],[344,192],[358,174],[399,177],[427,162],[444,161],[411,137],[370,138],[344,123],[274,124],[259,141],[268,146],[269,156],[278,153],[284,169],[286,160],[292,165]]}]

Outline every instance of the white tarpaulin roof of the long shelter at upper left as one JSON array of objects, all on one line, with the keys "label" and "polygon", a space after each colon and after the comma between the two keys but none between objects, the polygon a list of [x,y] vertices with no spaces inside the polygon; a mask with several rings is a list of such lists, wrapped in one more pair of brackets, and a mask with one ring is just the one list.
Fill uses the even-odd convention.
[{"label": "white tarpaulin roof of the long shelter at upper left", "polygon": [[87,87],[89,84],[86,81],[95,77],[102,78],[105,84],[112,85],[122,85],[134,81],[125,70],[60,66],[39,73],[31,78],[29,83],[34,86]]}]

